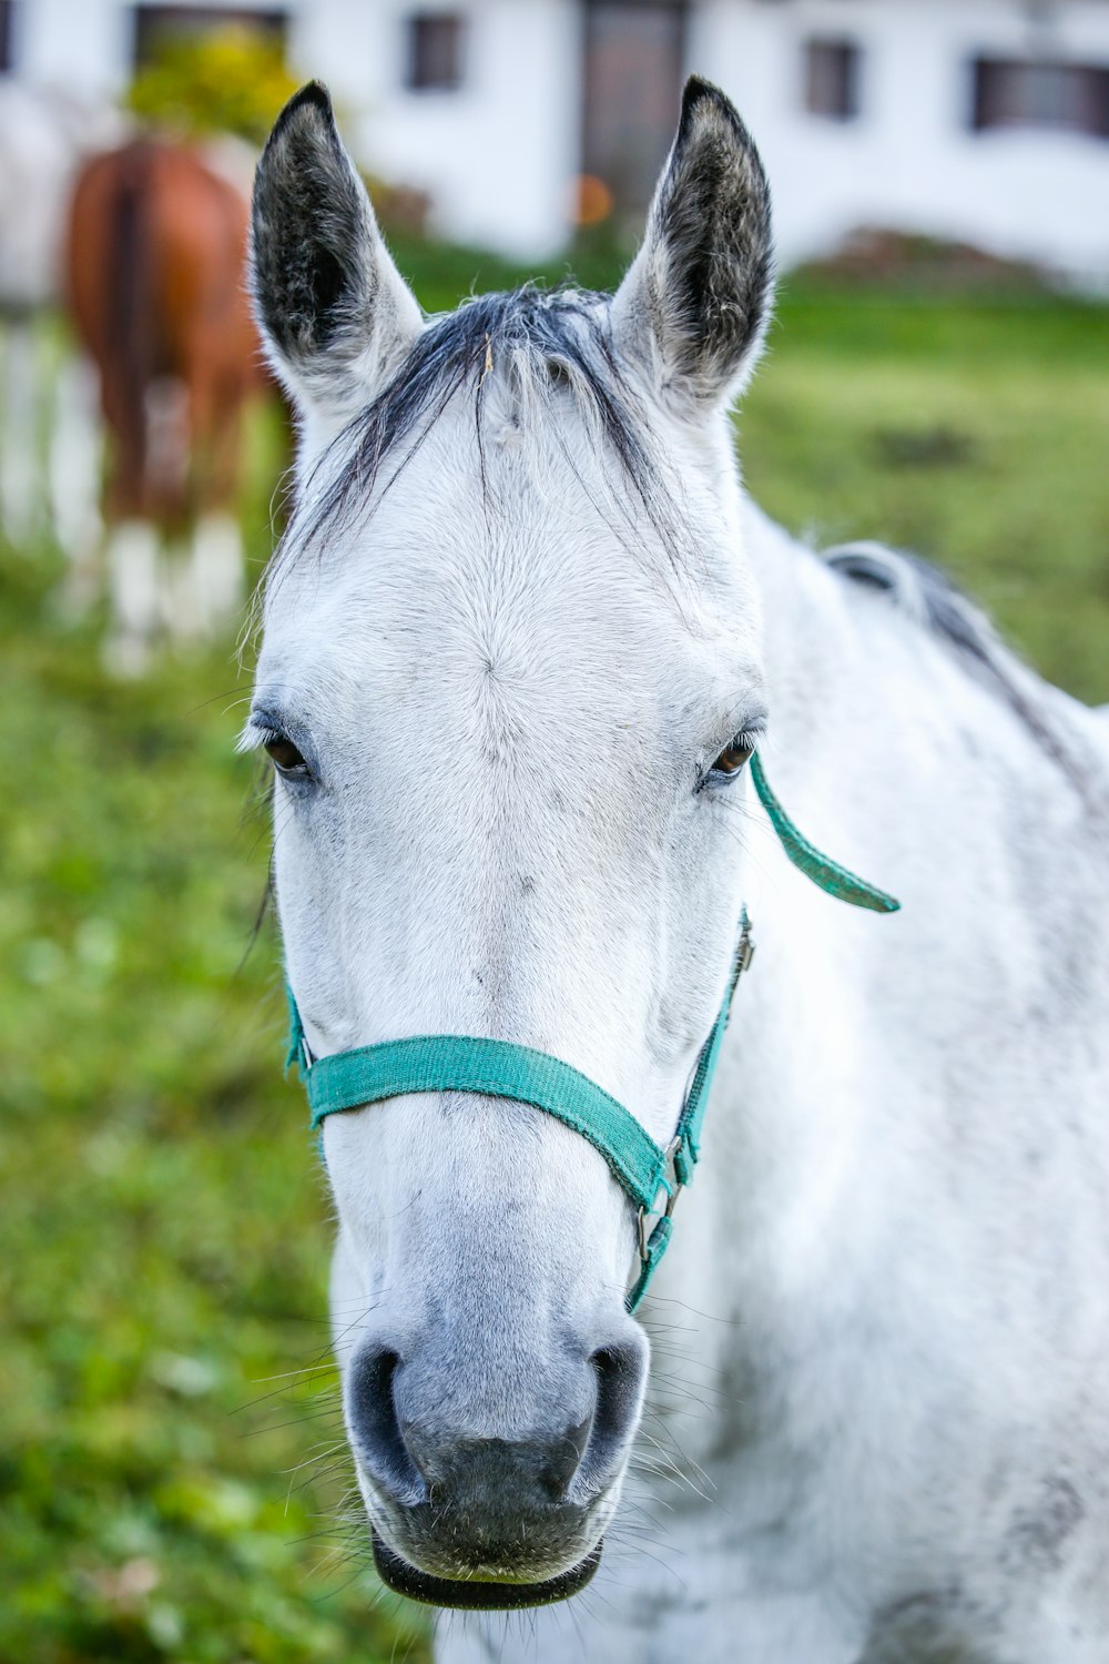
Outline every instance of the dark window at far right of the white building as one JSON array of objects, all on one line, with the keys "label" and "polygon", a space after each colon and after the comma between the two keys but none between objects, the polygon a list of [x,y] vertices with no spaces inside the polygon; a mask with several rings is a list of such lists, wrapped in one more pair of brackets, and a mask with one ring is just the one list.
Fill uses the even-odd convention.
[{"label": "dark window at far right of the white building", "polygon": [[974,58],[971,126],[1054,126],[1109,138],[1109,68]]}]

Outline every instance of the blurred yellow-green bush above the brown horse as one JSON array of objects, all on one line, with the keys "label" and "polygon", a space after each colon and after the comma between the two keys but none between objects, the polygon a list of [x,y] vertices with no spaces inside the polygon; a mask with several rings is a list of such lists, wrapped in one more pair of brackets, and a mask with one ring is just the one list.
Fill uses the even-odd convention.
[{"label": "blurred yellow-green bush above the brown horse", "polygon": [[263,145],[281,105],[296,92],[281,42],[259,30],[166,30],[153,60],[131,82],[126,103],[146,121],[190,136],[238,133]]}]

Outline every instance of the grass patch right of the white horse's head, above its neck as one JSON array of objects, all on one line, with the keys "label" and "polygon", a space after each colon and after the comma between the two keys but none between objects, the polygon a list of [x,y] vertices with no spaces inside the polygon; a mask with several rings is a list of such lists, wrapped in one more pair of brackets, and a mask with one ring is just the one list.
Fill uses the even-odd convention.
[{"label": "grass patch right of the white horse's head, above its neck", "polygon": [[818,542],[944,566],[1046,676],[1109,699],[1109,310],[786,295],[747,481]]}]

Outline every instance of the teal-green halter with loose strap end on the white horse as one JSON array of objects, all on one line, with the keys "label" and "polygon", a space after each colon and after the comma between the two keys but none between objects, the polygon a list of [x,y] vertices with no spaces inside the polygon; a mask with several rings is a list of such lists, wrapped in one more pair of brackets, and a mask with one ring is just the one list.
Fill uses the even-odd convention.
[{"label": "teal-green halter with loose strap end on the white horse", "polygon": [[[795,867],[800,867],[821,890],[855,907],[870,907],[881,914],[898,910],[900,902],[891,895],[828,860],[801,837],[770,790],[757,755],[752,757],[750,769],[758,799]],[[627,1310],[635,1311],[670,1241],[673,1205],[693,1178],[708,1088],[728,1027],[732,995],[753,952],[752,927],[743,909],[723,1003],[697,1060],[693,1083],[675,1135],[665,1146],[657,1145],[630,1110],[595,1085],[589,1075],[582,1075],[557,1057],[514,1045],[510,1040],[414,1035],[409,1040],[386,1040],[381,1045],[314,1058],[291,988],[288,988],[288,1065],[296,1063],[301,1072],[313,1127],[319,1127],[326,1115],[359,1110],[412,1092],[477,1092],[530,1103],[580,1133],[605,1158],[612,1176],[637,1210],[640,1270],[625,1298]],[[648,1225],[650,1220],[653,1225]]]}]

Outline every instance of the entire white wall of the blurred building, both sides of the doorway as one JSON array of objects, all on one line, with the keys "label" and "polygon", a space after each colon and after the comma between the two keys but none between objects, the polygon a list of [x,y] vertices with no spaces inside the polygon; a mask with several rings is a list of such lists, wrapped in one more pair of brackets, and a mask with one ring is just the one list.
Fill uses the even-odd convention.
[{"label": "entire white wall of the blurred building, both sides of the doorway", "polygon": [[[469,18],[464,85],[407,92],[404,18],[434,5]],[[565,245],[582,0],[288,0],[288,12],[294,72],[331,85],[367,168],[429,191],[437,231],[520,258]],[[103,98],[126,85],[125,0],[20,0],[15,18],[20,77]],[[803,106],[803,42],[838,33],[863,50],[861,113],[843,123]],[[1109,141],[968,128],[969,62],[1031,45],[1109,65],[1109,0],[693,0],[687,67],[737,100],[758,140],[783,265],[885,225],[1107,285]]]}]

